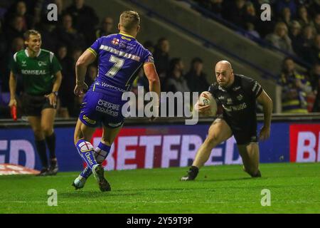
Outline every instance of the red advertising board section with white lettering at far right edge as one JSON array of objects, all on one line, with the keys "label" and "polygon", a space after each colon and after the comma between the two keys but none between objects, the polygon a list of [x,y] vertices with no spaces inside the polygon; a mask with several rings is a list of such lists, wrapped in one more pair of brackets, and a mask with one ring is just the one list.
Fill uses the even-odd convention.
[{"label": "red advertising board section with white lettering at far right edge", "polygon": [[320,161],[320,124],[289,126],[290,162]]}]

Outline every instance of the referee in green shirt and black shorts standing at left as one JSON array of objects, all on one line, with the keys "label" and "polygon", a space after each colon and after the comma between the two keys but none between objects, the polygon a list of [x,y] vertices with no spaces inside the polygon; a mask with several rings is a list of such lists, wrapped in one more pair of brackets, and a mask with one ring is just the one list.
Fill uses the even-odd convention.
[{"label": "referee in green shirt and black shorts standing at left", "polygon": [[[36,148],[41,159],[41,176],[55,175],[58,162],[55,156],[53,122],[61,84],[61,66],[54,54],[41,49],[41,34],[36,30],[24,33],[26,49],[14,54],[9,79],[9,106],[16,105],[16,76],[23,80],[22,105],[34,133]],[[50,153],[50,166],[46,154]]]}]

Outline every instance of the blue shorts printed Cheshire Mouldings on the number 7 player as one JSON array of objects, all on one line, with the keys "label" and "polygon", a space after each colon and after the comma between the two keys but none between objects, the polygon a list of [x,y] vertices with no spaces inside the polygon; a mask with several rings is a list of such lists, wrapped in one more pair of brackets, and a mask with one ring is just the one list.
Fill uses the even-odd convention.
[{"label": "blue shorts printed Cheshire Mouldings on the number 7 player", "polygon": [[124,122],[122,96],[100,93],[91,89],[85,93],[79,118],[85,125],[95,128],[101,123],[108,128],[117,128]]}]

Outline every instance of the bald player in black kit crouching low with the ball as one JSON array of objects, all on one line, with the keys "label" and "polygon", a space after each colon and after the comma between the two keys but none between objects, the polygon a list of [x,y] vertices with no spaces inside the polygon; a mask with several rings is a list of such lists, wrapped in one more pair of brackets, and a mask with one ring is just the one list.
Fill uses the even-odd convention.
[{"label": "bald player in black kit crouching low with the ball", "polygon": [[[208,130],[208,137],[199,147],[188,174],[181,180],[194,180],[199,169],[209,159],[211,150],[221,142],[235,136],[243,168],[251,177],[261,177],[259,170],[259,140],[270,136],[272,100],[260,84],[246,76],[233,73],[228,61],[215,65],[216,83],[209,92],[223,106],[223,115],[216,118]],[[263,106],[264,125],[257,138],[256,101]],[[199,113],[206,113],[209,105],[199,106]]]}]

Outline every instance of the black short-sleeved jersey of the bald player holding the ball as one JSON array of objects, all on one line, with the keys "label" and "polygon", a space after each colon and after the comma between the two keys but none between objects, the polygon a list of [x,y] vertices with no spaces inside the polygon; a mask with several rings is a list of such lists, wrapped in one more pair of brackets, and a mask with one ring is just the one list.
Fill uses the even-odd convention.
[{"label": "black short-sleeved jersey of the bald player holding the ball", "polygon": [[213,83],[208,91],[223,106],[223,118],[228,120],[230,127],[257,128],[256,100],[262,93],[260,83],[235,74],[235,81],[230,87],[222,88],[218,83]]}]

